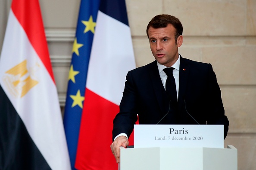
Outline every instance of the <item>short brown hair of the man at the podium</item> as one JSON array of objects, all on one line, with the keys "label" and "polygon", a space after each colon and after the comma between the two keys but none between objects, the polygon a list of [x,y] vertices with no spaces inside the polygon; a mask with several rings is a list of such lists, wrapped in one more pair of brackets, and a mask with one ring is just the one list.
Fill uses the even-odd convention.
[{"label": "short brown hair of the man at the podium", "polygon": [[176,33],[175,33],[175,42],[176,42],[178,36],[182,35],[183,27],[182,27],[181,21],[178,18],[172,15],[167,15],[167,14],[156,15],[154,18],[151,19],[151,21],[147,24],[147,37],[149,38],[148,29],[150,27],[165,28],[167,27],[168,24],[172,24],[172,26],[175,27],[176,29]]}]

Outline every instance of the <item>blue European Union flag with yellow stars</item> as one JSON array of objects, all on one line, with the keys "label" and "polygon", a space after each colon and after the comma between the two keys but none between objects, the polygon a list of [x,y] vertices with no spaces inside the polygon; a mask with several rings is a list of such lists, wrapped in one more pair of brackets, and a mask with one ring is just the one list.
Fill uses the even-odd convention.
[{"label": "blue European Union flag with yellow stars", "polygon": [[81,0],[64,112],[64,127],[72,169],[75,170],[88,63],[100,0]]}]

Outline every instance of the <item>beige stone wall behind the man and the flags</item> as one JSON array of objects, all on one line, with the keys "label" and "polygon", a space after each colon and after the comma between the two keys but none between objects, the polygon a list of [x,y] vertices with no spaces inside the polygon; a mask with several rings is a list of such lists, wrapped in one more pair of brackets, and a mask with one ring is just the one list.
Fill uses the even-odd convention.
[{"label": "beige stone wall behind the man and the flags", "polygon": [[[0,1],[0,46],[10,3]],[[40,3],[63,108],[80,1]],[[255,170],[256,0],[126,0],[126,5],[137,67],[154,60],[145,32],[150,19],[166,13],[181,20],[184,42],[179,52],[184,58],[211,63],[217,75],[230,120],[225,146],[238,149],[239,170]]]}]

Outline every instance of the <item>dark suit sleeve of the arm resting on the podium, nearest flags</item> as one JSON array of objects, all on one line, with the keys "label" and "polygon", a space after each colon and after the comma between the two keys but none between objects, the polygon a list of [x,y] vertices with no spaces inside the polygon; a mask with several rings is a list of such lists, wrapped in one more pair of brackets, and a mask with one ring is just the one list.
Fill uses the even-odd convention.
[{"label": "dark suit sleeve of the arm resting on the podium, nearest flags", "polygon": [[113,120],[112,140],[121,133],[127,134],[129,138],[137,121],[137,92],[131,71],[126,76],[125,90],[119,108],[120,111]]}]

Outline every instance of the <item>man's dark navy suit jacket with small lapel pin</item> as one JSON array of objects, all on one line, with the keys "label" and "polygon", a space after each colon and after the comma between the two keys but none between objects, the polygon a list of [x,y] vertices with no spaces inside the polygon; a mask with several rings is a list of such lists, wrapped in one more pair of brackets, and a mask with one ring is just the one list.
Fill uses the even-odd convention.
[{"label": "man's dark navy suit jacket with small lapel pin", "polygon": [[156,61],[136,68],[126,76],[120,112],[113,121],[113,139],[121,133],[129,137],[137,115],[139,124],[157,124],[169,108],[159,124],[224,124],[227,136],[229,121],[212,65],[181,57],[178,113],[173,114]]}]

